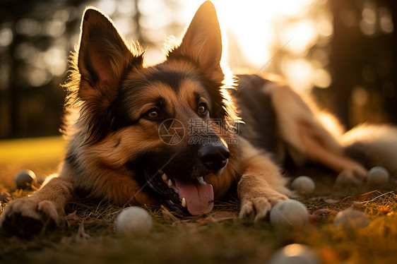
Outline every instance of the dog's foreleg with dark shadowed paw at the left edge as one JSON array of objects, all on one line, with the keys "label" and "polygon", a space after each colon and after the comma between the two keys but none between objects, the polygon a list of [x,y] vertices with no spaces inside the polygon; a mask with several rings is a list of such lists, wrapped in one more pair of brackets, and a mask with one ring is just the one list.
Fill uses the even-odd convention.
[{"label": "dog's foreleg with dark shadowed paw at the left edge", "polygon": [[0,226],[11,232],[37,232],[45,224],[62,226],[72,191],[71,182],[54,174],[32,196],[12,200],[1,215]]}]

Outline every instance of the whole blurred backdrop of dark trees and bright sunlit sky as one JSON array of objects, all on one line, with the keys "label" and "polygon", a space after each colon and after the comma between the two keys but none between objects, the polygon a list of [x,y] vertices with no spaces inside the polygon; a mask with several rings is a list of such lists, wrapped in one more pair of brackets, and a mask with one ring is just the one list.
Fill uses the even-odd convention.
[{"label": "whole blurred backdrop of dark trees and bright sunlit sky", "polygon": [[[397,1],[213,2],[220,20],[232,25],[223,32],[232,69],[285,76],[347,127],[397,124]],[[164,38],[179,36],[189,23],[182,19],[186,6],[196,11],[201,1],[0,0],[0,138],[59,134],[65,96],[59,83],[90,4],[111,17],[126,40],[150,47],[150,64],[164,57]]]}]

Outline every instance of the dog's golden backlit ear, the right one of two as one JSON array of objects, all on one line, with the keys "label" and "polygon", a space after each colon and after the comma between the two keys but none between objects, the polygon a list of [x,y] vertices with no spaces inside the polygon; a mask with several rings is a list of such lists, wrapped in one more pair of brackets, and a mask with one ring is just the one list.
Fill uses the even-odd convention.
[{"label": "dog's golden backlit ear, the right one of two", "polygon": [[218,16],[211,1],[204,2],[186,30],[182,43],[169,54],[169,58],[188,56],[198,64],[208,78],[223,80],[220,68],[222,38]]}]

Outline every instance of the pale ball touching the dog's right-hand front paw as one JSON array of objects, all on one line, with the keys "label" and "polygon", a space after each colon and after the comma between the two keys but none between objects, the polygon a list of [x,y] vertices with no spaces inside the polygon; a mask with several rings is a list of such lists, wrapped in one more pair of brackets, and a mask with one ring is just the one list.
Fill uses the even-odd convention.
[{"label": "pale ball touching the dog's right-hand front paw", "polygon": [[297,200],[283,200],[270,212],[273,227],[302,228],[309,222],[309,212]]}]

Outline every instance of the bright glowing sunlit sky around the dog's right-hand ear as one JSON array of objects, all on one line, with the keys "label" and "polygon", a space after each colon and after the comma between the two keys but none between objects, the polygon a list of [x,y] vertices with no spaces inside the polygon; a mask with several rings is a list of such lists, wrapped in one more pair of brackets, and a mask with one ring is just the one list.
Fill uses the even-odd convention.
[{"label": "bright glowing sunlit sky around the dog's right-hand ear", "polygon": [[[181,4],[187,24],[201,1]],[[213,0],[213,4],[223,31],[223,61],[232,70],[249,67],[254,72],[280,73],[302,92],[331,84],[324,52],[317,52],[319,59],[307,59],[309,49],[333,33],[326,0]]]}]

